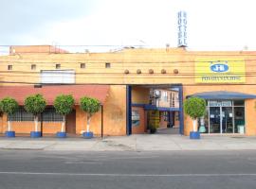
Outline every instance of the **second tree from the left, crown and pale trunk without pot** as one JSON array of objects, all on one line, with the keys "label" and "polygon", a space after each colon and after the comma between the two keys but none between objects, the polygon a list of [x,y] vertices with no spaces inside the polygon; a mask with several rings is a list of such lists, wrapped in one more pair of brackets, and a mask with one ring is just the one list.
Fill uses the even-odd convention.
[{"label": "second tree from the left, crown and pale trunk without pot", "polygon": [[35,131],[38,131],[38,116],[46,109],[46,99],[42,94],[29,95],[25,99],[25,110],[34,115]]}]

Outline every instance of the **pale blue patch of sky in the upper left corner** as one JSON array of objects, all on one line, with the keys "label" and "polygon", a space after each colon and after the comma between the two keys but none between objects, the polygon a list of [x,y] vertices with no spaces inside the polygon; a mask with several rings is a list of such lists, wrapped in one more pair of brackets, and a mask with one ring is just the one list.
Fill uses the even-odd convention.
[{"label": "pale blue patch of sky in the upper left corner", "polygon": [[[0,43],[22,42],[20,36],[44,34],[44,26],[90,14],[98,3],[83,0],[2,0]],[[34,32],[35,31],[35,32]]]}]

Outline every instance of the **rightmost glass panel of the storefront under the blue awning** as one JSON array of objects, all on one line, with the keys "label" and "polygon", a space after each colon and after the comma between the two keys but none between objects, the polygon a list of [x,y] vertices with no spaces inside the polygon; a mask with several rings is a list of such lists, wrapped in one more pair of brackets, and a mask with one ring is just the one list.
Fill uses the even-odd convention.
[{"label": "rightmost glass panel of the storefront under the blue awning", "polygon": [[234,107],[234,132],[245,133],[245,107]]}]

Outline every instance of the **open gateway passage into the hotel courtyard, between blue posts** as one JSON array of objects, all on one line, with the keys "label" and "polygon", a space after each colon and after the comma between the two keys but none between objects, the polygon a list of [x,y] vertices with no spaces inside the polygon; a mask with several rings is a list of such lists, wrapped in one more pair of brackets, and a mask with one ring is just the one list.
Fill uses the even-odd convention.
[{"label": "open gateway passage into the hotel courtyard, between blue posts", "polygon": [[127,134],[149,133],[156,129],[157,132],[167,130],[183,134],[182,90],[182,85],[178,84],[129,86]]}]

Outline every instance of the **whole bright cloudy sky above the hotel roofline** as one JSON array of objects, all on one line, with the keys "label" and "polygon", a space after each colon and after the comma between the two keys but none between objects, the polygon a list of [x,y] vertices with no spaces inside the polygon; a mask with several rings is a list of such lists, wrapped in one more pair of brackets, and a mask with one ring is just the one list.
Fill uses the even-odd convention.
[{"label": "whole bright cloudy sky above the hotel roofline", "polygon": [[188,15],[189,50],[256,50],[255,0],[1,0],[0,5],[0,51],[3,45],[28,44],[74,51],[176,47],[179,10]]}]

